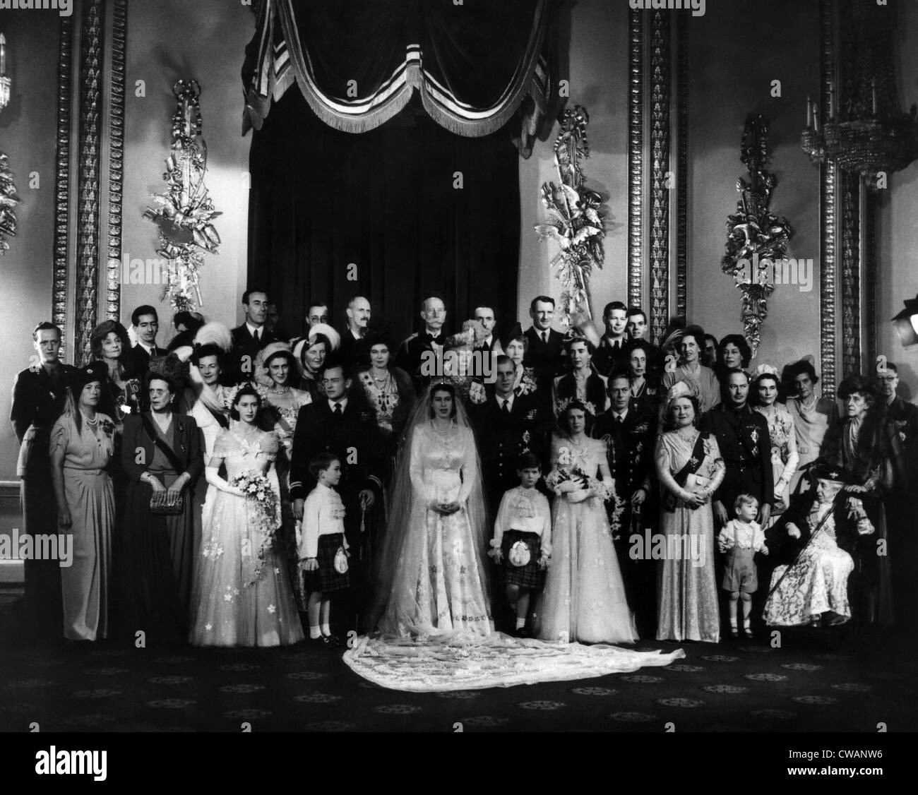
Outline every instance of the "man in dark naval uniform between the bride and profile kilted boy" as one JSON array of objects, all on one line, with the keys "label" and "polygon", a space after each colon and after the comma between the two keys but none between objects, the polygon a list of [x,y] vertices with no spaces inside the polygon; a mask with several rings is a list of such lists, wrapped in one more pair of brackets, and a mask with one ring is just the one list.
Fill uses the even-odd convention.
[{"label": "man in dark naval uniform between the bride and profile kilted boy", "polygon": [[[309,473],[309,462],[318,453],[334,453],[341,461],[341,482],[337,490],[344,503],[344,532],[350,545],[351,588],[338,615],[344,623],[339,631],[372,629],[362,623],[369,608],[368,575],[377,543],[372,532],[381,506],[383,486],[380,478],[382,440],[372,409],[351,394],[352,381],[340,362],[332,361],[322,375],[325,397],[299,409],[297,430],[290,454],[290,501],[297,519],[303,518],[303,503],[316,487]],[[356,616],[356,618],[355,618]]]}]

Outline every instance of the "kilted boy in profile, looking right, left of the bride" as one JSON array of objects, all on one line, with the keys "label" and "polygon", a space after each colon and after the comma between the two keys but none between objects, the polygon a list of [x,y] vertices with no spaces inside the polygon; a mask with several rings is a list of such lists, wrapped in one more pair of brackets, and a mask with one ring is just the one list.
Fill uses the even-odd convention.
[{"label": "kilted boy in profile, looking right, left of the bride", "polygon": [[309,595],[309,638],[328,646],[340,646],[341,640],[330,628],[330,594],[351,586],[344,503],[334,488],[341,480],[341,461],[333,453],[319,453],[309,462],[309,472],[317,484],[303,505],[299,543],[303,591]]}]

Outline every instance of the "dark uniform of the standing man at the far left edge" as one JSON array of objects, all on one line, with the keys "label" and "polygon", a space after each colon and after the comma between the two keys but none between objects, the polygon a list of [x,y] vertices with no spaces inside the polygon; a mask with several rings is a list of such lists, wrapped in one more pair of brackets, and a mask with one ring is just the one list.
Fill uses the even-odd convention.
[{"label": "dark uniform of the standing man at the far left edge", "polygon": [[[63,413],[73,372],[70,365],[58,364],[54,375],[44,367],[38,373],[23,370],[13,382],[9,419],[20,444],[17,476],[22,478],[19,493],[23,534],[57,532],[57,503],[50,477],[50,430]],[[63,621],[61,568],[55,560],[26,560],[24,566],[28,626],[41,635],[59,637]]]}]

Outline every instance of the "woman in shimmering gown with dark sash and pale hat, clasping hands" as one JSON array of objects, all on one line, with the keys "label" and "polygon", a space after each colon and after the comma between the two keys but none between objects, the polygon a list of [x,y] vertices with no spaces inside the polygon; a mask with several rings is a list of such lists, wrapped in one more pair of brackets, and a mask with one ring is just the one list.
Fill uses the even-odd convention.
[{"label": "woman in shimmering gown with dark sash and pale hat, clasping hands", "polygon": [[666,554],[657,590],[656,639],[707,641],[721,637],[714,578],[711,495],[725,467],[717,440],[695,427],[699,401],[690,385],[669,390],[664,433],[656,442],[656,475],[663,507]]}]

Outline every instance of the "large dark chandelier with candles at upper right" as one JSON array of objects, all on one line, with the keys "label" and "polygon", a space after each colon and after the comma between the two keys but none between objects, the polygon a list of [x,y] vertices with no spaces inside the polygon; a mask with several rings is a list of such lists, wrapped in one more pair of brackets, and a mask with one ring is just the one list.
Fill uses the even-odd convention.
[{"label": "large dark chandelier with candles at upper right", "polygon": [[800,146],[814,165],[837,164],[875,190],[885,187],[881,175],[901,171],[918,157],[918,108],[902,113],[896,98],[890,12],[856,0],[846,24],[843,35],[853,57],[850,95],[837,102],[835,84],[829,84],[822,126],[819,107],[807,98]]}]

